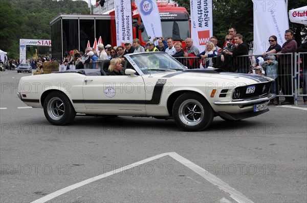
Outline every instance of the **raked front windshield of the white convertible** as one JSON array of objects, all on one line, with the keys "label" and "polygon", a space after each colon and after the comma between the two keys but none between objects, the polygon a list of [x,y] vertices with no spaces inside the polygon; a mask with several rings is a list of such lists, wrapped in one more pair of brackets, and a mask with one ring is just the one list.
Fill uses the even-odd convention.
[{"label": "raked front windshield of the white convertible", "polygon": [[144,74],[175,72],[186,67],[166,53],[148,53],[129,56]]}]

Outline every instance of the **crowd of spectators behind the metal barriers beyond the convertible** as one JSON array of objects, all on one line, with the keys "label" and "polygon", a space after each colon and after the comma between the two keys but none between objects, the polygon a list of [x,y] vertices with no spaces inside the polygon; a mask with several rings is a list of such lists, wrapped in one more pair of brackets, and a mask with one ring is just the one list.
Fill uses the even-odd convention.
[{"label": "crowd of spectators behind the metal barriers beyond the convertible", "polygon": [[[297,47],[296,41],[293,39],[293,31],[286,30],[284,38],[286,42],[280,46],[277,42],[277,37],[272,35],[269,37],[270,44],[268,50],[259,56],[249,55],[249,45],[244,41],[241,34],[236,33],[235,28],[228,30],[228,35],[225,36],[223,47],[218,47],[218,40],[215,36],[210,38],[206,43],[205,50],[199,50],[193,45],[192,38],[185,39],[185,47],[181,42],[174,43],[171,37],[166,40],[163,37],[155,37],[153,41],[148,41],[143,47],[139,39],[135,38],[132,42],[125,41],[123,46],[112,46],[102,43],[98,44],[98,52],[92,47],[87,47],[85,53],[79,52],[77,49],[65,52],[63,60],[61,61],[64,69],[82,69],[82,68],[98,68],[97,63],[105,59],[119,59],[114,61],[112,71],[116,67],[122,69],[119,61],[123,64],[123,56],[130,53],[141,52],[165,52],[168,55],[176,58],[179,62],[189,69],[194,68],[220,68],[229,72],[249,73],[257,75],[266,75],[274,79],[272,85],[272,92],[279,94],[282,91],[286,99],[281,105],[294,104],[294,97],[292,96],[292,71],[293,71],[293,57],[289,53],[307,52],[306,43]],[[305,60],[307,61],[307,60]],[[304,62],[305,63],[305,62]],[[304,80],[303,91],[307,91],[307,67],[303,68]],[[116,73],[119,74],[119,73]],[[281,78],[282,75],[282,78]],[[304,96],[304,104],[307,105],[307,96]],[[272,104],[278,105],[278,97],[272,101]]]}]

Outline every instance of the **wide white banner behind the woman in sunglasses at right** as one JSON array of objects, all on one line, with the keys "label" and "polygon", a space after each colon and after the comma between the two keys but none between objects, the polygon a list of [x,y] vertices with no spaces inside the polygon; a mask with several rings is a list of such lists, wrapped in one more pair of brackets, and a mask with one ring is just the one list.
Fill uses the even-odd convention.
[{"label": "wide white banner behind the woman in sunglasses at right", "polygon": [[254,48],[253,54],[262,55],[270,44],[270,36],[277,37],[277,43],[282,46],[284,31],[289,29],[288,12],[286,2],[278,1],[256,1],[254,3]]}]

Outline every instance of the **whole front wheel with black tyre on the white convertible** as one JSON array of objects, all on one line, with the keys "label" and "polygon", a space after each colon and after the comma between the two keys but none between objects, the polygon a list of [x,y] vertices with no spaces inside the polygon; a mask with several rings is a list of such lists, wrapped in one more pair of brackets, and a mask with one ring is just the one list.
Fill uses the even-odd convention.
[{"label": "whole front wheel with black tyre on the white convertible", "polygon": [[172,109],[176,124],[184,131],[201,131],[206,129],[212,122],[214,113],[201,95],[184,93],[174,102]]}]

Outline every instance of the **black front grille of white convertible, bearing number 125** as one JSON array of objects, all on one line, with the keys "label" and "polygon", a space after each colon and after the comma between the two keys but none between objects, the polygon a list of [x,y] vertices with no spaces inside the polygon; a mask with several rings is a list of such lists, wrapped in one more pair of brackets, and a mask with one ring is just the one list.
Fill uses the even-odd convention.
[{"label": "black front grille of white convertible, bearing number 125", "polygon": [[[247,87],[255,85],[255,91],[253,93],[246,93]],[[237,87],[240,90],[240,96],[239,98],[234,98],[232,95],[233,99],[246,99],[246,98],[254,98],[254,97],[260,97],[260,96],[265,96],[269,93],[271,89],[272,82],[268,83],[259,83],[259,84],[253,84],[253,85],[248,85],[248,86],[243,86],[243,87]]]}]

